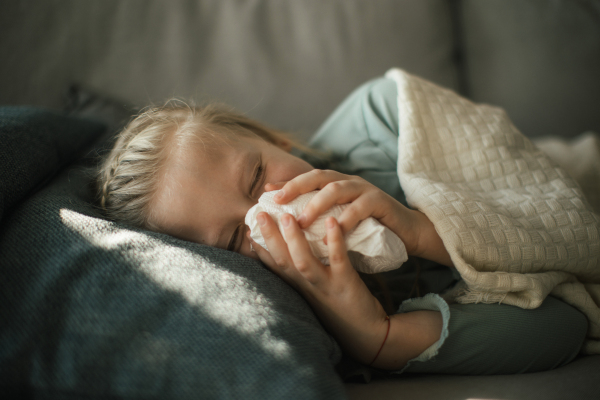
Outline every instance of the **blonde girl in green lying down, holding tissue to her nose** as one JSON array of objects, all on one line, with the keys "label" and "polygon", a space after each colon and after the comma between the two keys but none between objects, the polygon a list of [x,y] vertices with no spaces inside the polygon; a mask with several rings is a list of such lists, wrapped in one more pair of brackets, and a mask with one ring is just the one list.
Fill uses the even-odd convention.
[{"label": "blonde girl in green lying down, holding tissue to her nose", "polygon": [[[331,153],[338,172],[315,169],[291,154],[302,146],[281,132],[223,108],[152,108],[120,133],[106,158],[100,203],[115,220],[260,259],[306,298],[347,354],[367,365],[490,374],[540,371],[572,360],[587,321],[557,299],[523,310],[448,304],[428,294],[388,316],[352,268],[343,236],[367,217],[398,235],[409,255],[452,268],[433,224],[402,204],[393,150],[397,117],[393,81],[376,79],[351,94],[312,142]],[[276,189],[280,204],[320,192],[297,219],[283,217],[287,243],[269,215],[259,214],[269,253],[251,247],[244,218],[263,192]],[[337,221],[326,221],[331,265],[325,266],[301,229],[335,204],[349,206]]]}]

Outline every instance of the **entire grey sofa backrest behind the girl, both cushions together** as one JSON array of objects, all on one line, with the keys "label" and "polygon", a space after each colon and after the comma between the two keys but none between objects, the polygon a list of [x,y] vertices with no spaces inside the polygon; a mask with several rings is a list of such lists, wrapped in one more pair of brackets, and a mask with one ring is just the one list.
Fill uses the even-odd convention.
[{"label": "entire grey sofa backrest behind the girl, both cushions together", "polygon": [[211,99],[307,139],[400,67],[504,107],[530,136],[600,131],[600,2],[104,0],[3,4],[0,104],[79,82],[135,103]]}]

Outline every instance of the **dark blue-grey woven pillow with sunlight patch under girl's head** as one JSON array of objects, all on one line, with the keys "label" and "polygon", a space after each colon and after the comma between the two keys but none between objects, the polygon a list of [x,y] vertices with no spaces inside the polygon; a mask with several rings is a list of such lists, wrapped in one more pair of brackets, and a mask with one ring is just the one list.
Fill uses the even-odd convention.
[{"label": "dark blue-grey woven pillow with sunlight patch under girl's head", "polygon": [[341,399],[340,350],[254,260],[102,218],[64,170],[0,227],[0,392]]}]

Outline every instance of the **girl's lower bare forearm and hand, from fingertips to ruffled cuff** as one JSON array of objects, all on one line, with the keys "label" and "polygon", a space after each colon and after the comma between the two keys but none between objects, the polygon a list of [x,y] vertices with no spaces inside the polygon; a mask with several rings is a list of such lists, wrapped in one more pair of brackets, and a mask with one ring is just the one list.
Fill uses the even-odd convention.
[{"label": "girl's lower bare forearm and hand, from fingertips to ruffled cuff", "polygon": [[334,218],[326,221],[330,266],[314,257],[291,215],[282,218],[287,243],[268,214],[259,213],[258,220],[270,249],[254,244],[260,259],[307,299],[329,332],[357,360],[370,364],[384,344],[372,365],[400,369],[440,338],[441,314],[415,311],[391,316],[384,342],[386,313],[350,264]]}]

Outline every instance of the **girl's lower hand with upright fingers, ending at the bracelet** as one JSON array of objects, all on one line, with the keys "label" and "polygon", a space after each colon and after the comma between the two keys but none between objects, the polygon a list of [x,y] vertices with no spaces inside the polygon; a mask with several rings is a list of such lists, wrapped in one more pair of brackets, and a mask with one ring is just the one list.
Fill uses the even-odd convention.
[{"label": "girl's lower hand with upright fingers, ending at the bracelet", "polygon": [[287,244],[267,213],[257,218],[270,250],[253,243],[261,261],[304,296],[347,353],[370,363],[386,335],[386,313],[352,268],[336,220],[326,220],[331,265],[325,266],[312,254],[291,215],[281,220]]}]

